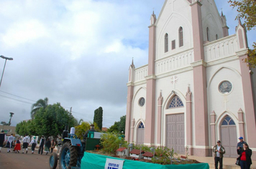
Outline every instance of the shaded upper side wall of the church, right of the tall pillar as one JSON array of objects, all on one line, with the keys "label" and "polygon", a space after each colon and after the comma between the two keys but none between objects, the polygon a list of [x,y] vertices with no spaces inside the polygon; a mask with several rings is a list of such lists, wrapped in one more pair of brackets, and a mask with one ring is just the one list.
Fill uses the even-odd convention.
[{"label": "shaded upper side wall of the church, right of the tall pillar", "polygon": [[216,34],[219,38],[224,37],[221,17],[216,9],[215,2],[212,0],[201,1],[202,23],[204,30],[204,42],[207,41],[206,28],[209,27],[209,41],[216,40]]}]

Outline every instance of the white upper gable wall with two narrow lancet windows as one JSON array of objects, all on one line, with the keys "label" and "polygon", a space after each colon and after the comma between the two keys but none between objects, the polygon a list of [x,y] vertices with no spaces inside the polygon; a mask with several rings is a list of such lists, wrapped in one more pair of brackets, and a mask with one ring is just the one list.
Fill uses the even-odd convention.
[{"label": "white upper gable wall with two narrow lancet windows", "polygon": [[[188,1],[167,1],[156,25],[156,59],[169,57],[193,47],[191,6]],[[180,26],[183,28],[183,47],[179,47],[178,30]],[[166,33],[168,34],[168,52],[164,50]],[[175,40],[175,49],[172,49],[173,40]]]}]

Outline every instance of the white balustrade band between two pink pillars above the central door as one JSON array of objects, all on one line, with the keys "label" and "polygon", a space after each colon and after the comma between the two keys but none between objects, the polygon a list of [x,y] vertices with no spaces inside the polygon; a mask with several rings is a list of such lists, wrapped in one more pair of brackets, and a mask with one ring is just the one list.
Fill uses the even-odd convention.
[{"label": "white balustrade band between two pink pillars above the central door", "polygon": [[171,72],[175,69],[188,67],[194,60],[193,49],[175,54],[165,59],[160,59],[155,63],[155,74]]}]

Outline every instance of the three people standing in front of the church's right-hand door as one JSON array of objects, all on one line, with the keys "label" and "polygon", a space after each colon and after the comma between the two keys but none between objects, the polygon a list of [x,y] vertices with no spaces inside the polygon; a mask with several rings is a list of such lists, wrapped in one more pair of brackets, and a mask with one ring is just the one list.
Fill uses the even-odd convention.
[{"label": "three people standing in front of the church's right-hand door", "polygon": [[[243,137],[239,137],[239,142],[237,143],[237,154],[239,157],[237,158],[237,165],[240,165],[241,169],[250,169],[252,165],[252,150],[249,148],[249,145],[244,142]],[[218,140],[217,144],[213,148],[214,152],[214,163],[215,169],[222,169],[223,165],[223,155],[225,152],[225,148],[221,145],[221,141]]]}]

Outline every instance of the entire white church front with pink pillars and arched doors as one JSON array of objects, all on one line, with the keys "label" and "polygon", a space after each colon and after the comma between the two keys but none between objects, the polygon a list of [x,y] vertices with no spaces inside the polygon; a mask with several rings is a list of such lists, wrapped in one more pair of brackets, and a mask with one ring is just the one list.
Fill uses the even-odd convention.
[{"label": "entire white church front with pink pillars and arched doors", "polygon": [[[214,0],[165,0],[149,26],[148,64],[129,67],[125,139],[211,156],[217,140],[237,157],[242,136],[256,154],[255,102],[246,29],[229,35]],[[256,155],[253,156],[256,159]]]}]

